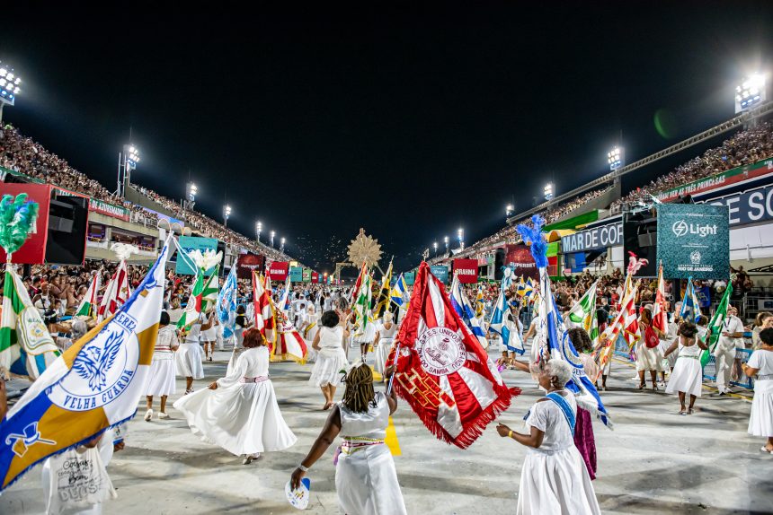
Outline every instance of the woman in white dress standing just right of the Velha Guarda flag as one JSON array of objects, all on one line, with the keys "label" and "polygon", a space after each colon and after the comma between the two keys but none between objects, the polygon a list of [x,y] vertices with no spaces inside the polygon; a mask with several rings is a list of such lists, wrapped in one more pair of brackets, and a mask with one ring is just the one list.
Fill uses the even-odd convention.
[{"label": "woman in white dress standing just right of the Velha Guarda flag", "polygon": [[166,397],[174,395],[174,351],[180,346],[177,341],[177,330],[169,325],[169,313],[161,311],[161,320],[158,325],[158,336],[155,339],[153,362],[150,363],[150,377],[147,379],[145,396],[147,398],[147,412],[145,422],[153,418],[153,397],[161,397],[161,411],[158,418],[169,418],[166,415]]}]

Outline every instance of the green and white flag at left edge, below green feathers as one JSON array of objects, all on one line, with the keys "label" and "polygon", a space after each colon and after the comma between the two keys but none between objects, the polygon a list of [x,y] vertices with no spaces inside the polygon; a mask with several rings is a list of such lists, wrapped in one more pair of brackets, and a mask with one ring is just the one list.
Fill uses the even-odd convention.
[{"label": "green and white flag at left edge, below green feathers", "polygon": [[30,294],[10,263],[5,266],[0,317],[0,375],[9,371],[36,380],[61,354]]}]

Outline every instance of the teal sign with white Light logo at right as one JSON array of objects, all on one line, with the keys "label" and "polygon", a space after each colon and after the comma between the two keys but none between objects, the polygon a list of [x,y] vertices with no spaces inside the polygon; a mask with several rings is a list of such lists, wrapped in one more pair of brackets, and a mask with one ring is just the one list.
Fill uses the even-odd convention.
[{"label": "teal sign with white Light logo at right", "polygon": [[727,279],[730,230],[720,205],[658,206],[658,262],[669,279]]}]

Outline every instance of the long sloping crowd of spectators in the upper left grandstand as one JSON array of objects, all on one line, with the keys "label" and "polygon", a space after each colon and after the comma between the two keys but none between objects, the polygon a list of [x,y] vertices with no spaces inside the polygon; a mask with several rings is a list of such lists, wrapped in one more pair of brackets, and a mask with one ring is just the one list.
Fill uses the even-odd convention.
[{"label": "long sloping crowd of spectators in the upper left grandstand", "polygon": [[[112,205],[123,206],[129,209],[132,220],[135,222],[153,225],[158,222],[158,216],[155,213],[111,193],[98,180],[90,179],[84,173],[70,166],[67,160],[49,152],[43,145],[22,135],[17,128],[10,125],[0,130],[0,166],[59,188],[93,196]],[[163,205],[164,209],[175,214],[177,218],[184,219],[194,231],[205,236],[217,238],[237,248],[268,256],[273,260],[289,259],[279,250],[259,245],[255,240],[245,238],[244,235],[227,229],[203,214],[191,210],[185,210],[183,213],[181,205],[156,194],[152,190],[138,187],[138,191]]]}]

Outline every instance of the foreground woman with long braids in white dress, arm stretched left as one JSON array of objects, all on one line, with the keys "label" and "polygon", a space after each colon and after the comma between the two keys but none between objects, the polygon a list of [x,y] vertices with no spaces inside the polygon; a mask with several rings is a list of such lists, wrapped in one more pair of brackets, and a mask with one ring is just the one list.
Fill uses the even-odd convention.
[{"label": "foreground woman with long braids in white dress, arm stretched left", "polygon": [[307,457],[293,471],[290,484],[298,488],[308,469],[342,434],[333,460],[340,511],[349,515],[404,515],[407,511],[395,461],[384,443],[389,415],[397,409],[395,392],[375,393],[373,371],[365,363],[352,368],[345,382],[343,400],[333,407]]}]

